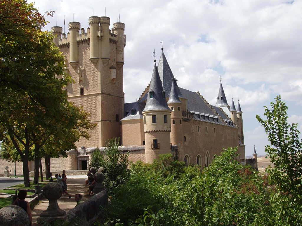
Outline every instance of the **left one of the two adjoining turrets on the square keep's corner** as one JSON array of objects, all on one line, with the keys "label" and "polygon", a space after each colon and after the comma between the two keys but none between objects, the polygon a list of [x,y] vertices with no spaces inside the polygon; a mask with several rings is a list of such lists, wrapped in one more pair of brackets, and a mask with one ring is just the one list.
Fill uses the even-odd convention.
[{"label": "left one of the two adjoining turrets on the square keep's corner", "polygon": [[98,31],[100,23],[100,17],[89,17],[89,48],[90,48],[90,61],[93,64],[96,64],[99,59],[99,39],[98,39]]}]

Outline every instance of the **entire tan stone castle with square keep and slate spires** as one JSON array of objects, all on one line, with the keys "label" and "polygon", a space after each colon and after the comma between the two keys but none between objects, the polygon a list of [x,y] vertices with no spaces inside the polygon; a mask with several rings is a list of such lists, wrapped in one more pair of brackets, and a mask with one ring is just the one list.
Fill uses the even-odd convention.
[{"label": "entire tan stone castle with square keep and slate spires", "polygon": [[103,150],[112,137],[121,138],[121,150],[133,162],[153,162],[159,154],[172,153],[188,164],[207,166],[223,148],[238,147],[237,160],[246,164],[243,112],[239,102],[237,109],[233,100],[228,105],[221,81],[217,103],[210,105],[200,93],[178,87],[162,48],[142,95],[124,103],[125,24],[114,23],[110,29],[109,17],[92,16],[86,32],[79,22],[68,27],[67,35],[62,27],[51,29],[65,56],[66,73],[75,81],[66,87],[68,99],[82,105],[97,127],[89,140],[76,143],[78,150],[67,152],[67,159],[52,159],[52,171],[87,169],[90,154]]}]

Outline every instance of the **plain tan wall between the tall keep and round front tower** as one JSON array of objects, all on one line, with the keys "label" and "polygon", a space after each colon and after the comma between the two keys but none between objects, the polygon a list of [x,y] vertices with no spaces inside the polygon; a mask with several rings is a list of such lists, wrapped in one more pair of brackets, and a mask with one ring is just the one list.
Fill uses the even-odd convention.
[{"label": "plain tan wall between the tall keep and round front tower", "polygon": [[141,145],[145,140],[143,119],[122,121],[123,145]]}]

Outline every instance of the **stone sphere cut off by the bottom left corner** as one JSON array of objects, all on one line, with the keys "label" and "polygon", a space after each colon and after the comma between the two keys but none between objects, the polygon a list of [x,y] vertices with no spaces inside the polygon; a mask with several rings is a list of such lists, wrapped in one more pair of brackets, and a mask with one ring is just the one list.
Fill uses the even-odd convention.
[{"label": "stone sphere cut off by the bottom left corner", "polygon": [[29,225],[27,212],[20,206],[9,205],[0,209],[0,222],[2,226]]}]

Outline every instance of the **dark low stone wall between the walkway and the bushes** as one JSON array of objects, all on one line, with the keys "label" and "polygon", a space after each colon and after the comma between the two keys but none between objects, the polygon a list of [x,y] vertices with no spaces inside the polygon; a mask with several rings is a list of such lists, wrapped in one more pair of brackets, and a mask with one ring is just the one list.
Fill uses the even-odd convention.
[{"label": "dark low stone wall between the walkway and the bushes", "polygon": [[90,199],[85,200],[80,205],[69,210],[66,215],[66,221],[70,222],[70,225],[78,225],[77,221],[80,220],[81,226],[94,225],[94,222],[103,218],[100,206],[105,206],[108,204],[108,194],[107,190],[103,190],[96,195],[92,196]]}]

